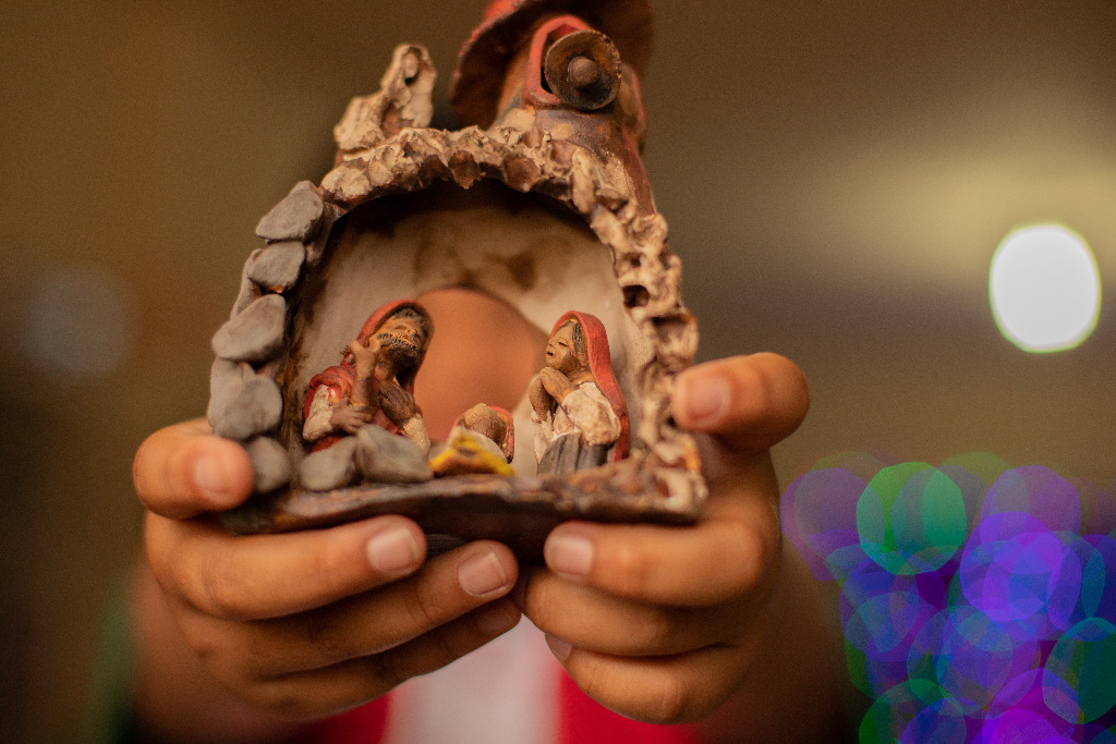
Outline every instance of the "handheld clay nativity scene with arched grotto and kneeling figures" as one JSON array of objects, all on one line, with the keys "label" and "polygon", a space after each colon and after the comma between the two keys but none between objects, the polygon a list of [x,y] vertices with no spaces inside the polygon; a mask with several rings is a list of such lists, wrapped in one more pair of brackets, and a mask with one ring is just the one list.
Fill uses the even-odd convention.
[{"label": "handheld clay nativity scene with arched grotto and kneeling figures", "polygon": [[[257,226],[213,338],[209,421],[256,493],[237,533],[378,514],[432,540],[537,557],[559,522],[690,523],[705,484],[670,415],[696,350],[639,160],[646,0],[496,0],[430,126],[435,73],[395,49],[334,129],[334,168]],[[415,378],[440,342],[424,294],[468,290],[546,335],[511,409],[475,400],[432,441]]]}]

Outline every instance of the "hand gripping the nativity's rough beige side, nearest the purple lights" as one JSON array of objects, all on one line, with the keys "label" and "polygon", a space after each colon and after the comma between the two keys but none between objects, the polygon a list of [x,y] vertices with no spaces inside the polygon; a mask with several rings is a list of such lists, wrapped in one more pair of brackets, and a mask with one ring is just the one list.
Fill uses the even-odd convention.
[{"label": "hand gripping the nativity's rough beige side, nearest the purple lights", "polygon": [[550,533],[547,568],[527,573],[517,601],[590,697],[632,718],[684,723],[761,674],[782,549],[768,448],[808,405],[801,371],[782,357],[694,367],[680,376],[672,410],[701,435],[702,521],[567,522]]}]

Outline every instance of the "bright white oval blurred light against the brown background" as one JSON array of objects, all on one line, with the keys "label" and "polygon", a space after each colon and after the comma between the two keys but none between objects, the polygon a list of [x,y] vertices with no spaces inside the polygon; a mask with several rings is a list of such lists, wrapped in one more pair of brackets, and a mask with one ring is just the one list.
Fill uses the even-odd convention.
[{"label": "bright white oval blurred light against the brown background", "polygon": [[989,298],[1008,340],[1024,351],[1060,351],[1096,327],[1100,274],[1080,235],[1057,224],[1023,228],[992,257]]}]

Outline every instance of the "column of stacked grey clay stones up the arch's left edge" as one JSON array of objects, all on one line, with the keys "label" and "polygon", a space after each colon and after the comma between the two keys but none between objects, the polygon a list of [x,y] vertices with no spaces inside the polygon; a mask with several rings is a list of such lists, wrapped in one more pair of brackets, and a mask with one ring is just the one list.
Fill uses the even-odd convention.
[{"label": "column of stacked grey clay stones up the arch's left edge", "polygon": [[[304,181],[260,220],[268,242],[244,263],[232,313],[213,336],[208,417],[213,433],[244,445],[256,470],[256,491],[290,483],[291,458],[278,441],[282,393],[275,370],[287,347],[286,294],[302,276],[308,245],[331,213],[314,184]],[[350,445],[352,446],[352,445]],[[349,453],[350,467],[352,453]]]}]

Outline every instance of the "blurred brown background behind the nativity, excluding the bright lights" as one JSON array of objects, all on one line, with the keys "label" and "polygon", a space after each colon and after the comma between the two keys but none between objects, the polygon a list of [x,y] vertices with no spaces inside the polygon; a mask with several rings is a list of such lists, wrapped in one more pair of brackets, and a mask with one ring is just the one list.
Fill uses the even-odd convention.
[{"label": "blurred brown background behind the nativity, excluding the bright lights", "polygon": [[[140,545],[133,453],[204,412],[259,216],[325,174],[395,44],[430,49],[444,104],[484,4],[0,3],[0,738],[77,735]],[[984,451],[1112,483],[1116,3],[655,9],[645,163],[700,356],[779,351],[810,380],[783,482]],[[989,303],[997,247],[1038,222],[1099,270],[1094,332],[1055,354]]]}]

